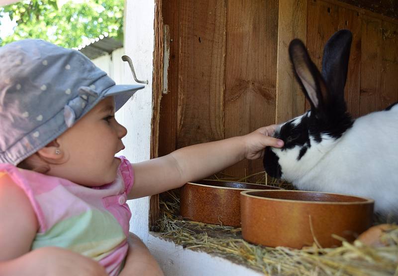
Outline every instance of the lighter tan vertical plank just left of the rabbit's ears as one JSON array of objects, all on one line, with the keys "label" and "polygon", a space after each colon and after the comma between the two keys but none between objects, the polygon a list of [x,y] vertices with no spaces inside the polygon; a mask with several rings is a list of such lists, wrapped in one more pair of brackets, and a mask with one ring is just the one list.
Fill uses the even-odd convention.
[{"label": "lighter tan vertical plank just left of the rabbit's ears", "polygon": [[306,41],[307,0],[279,0],[276,122],[286,122],[304,113],[305,97],[289,58],[289,43]]}]

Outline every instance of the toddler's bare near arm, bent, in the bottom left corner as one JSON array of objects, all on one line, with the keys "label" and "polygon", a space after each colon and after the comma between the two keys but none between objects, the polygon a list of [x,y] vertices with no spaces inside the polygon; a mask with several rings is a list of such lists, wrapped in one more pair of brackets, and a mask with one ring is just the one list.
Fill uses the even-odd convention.
[{"label": "toddler's bare near arm, bent, in the bottom left corner", "polygon": [[70,250],[30,251],[38,223],[25,193],[0,172],[0,275],[106,276],[98,262]]}]

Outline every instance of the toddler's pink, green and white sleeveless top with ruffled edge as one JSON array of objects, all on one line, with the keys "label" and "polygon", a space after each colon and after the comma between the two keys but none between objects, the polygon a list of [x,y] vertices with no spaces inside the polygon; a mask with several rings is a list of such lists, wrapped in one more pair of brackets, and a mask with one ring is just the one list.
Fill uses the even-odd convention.
[{"label": "toddler's pink, green and white sleeveless top with ruffled edge", "polygon": [[100,187],[0,163],[0,174],[7,173],[25,191],[36,213],[39,231],[32,250],[67,248],[98,261],[109,275],[120,272],[128,249],[131,212],[126,200],[134,173],[124,156],[118,158],[116,179]]}]

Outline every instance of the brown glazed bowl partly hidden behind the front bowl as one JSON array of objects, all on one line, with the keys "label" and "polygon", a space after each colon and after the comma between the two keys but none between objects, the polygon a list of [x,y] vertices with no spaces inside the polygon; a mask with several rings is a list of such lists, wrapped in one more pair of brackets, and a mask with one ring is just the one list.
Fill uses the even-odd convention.
[{"label": "brown glazed bowl partly hidden behind the front bowl", "polygon": [[239,195],[248,189],[281,188],[221,180],[189,182],[180,190],[180,214],[193,221],[240,227]]}]

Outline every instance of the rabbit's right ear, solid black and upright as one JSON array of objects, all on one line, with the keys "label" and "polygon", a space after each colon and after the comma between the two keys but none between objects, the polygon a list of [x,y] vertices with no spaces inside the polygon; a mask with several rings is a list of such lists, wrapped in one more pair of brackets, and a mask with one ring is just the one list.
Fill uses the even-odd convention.
[{"label": "rabbit's right ear, solid black and upright", "polygon": [[322,77],[327,83],[329,92],[339,95],[342,100],[344,100],[351,42],[352,33],[349,30],[339,30],[329,38],[323,49]]}]

